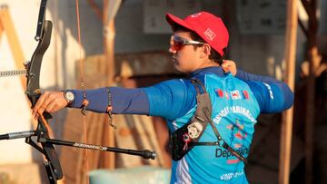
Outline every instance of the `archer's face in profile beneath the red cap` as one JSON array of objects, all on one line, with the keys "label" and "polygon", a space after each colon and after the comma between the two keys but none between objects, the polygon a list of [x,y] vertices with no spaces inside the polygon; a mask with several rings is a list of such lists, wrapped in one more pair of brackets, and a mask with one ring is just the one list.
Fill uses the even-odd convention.
[{"label": "archer's face in profile beneath the red cap", "polygon": [[[176,41],[174,41],[175,39]],[[169,53],[172,54],[172,61],[175,68],[182,73],[192,73],[196,69],[199,69],[203,63],[203,50],[202,47],[194,49],[194,44],[177,43],[179,39],[185,41],[192,41],[189,32],[177,31],[173,34],[171,39]]]}]

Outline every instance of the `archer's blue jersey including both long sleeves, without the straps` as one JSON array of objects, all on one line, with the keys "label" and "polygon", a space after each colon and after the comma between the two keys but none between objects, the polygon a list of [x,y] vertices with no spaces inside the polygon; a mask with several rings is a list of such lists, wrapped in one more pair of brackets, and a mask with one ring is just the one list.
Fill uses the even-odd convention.
[{"label": "archer's blue jersey including both long sleeves, without the straps", "polygon": [[[272,78],[238,71],[238,78],[224,74],[220,67],[191,73],[204,83],[213,104],[213,122],[225,140],[247,157],[254,124],[260,112],[280,112],[292,106],[293,93],[286,84]],[[253,81],[255,80],[255,81]],[[114,113],[138,113],[163,117],[175,131],[193,116],[196,91],[188,79],[160,82],[138,89],[110,88]],[[83,95],[74,91],[74,107],[81,107]],[[88,110],[104,112],[106,89],[86,91]],[[200,141],[216,141],[210,125]],[[247,183],[244,164],[219,146],[195,146],[182,160],[173,161],[171,183]]]}]

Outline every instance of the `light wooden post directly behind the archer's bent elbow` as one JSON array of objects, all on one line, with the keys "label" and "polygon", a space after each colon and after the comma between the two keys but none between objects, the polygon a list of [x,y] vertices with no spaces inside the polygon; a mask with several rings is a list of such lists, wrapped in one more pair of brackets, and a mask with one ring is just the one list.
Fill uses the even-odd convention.
[{"label": "light wooden post directly behind the archer's bent elbow", "polygon": [[[297,32],[297,0],[287,1],[287,20],[285,35],[286,83],[294,91],[294,68]],[[293,108],[282,113],[281,151],[279,164],[279,183],[287,184],[290,179],[292,150],[292,112]]]}]

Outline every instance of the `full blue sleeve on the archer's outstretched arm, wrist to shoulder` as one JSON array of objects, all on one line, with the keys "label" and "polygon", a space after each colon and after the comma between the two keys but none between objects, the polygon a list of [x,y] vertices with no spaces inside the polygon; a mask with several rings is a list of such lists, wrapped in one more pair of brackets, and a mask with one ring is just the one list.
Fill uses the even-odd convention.
[{"label": "full blue sleeve on the archer's outstretched arm, wrist to shoulder", "polygon": [[[145,114],[161,116],[174,120],[189,111],[195,104],[195,90],[190,82],[170,80],[157,83],[146,88],[110,87],[113,113],[116,114]],[[75,100],[73,108],[81,108],[84,99],[83,91],[73,90]],[[89,104],[86,110],[102,112],[108,106],[107,88],[86,90]]]}]

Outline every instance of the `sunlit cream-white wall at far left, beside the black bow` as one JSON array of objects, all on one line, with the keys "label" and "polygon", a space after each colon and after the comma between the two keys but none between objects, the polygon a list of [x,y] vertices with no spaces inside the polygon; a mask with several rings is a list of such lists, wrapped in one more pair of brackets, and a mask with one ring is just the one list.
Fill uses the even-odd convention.
[{"label": "sunlit cream-white wall at far left, beside the black bow", "polygon": [[[25,57],[31,55],[32,49],[30,48],[35,47],[35,42],[33,42],[35,30],[32,28],[35,21],[27,19],[26,15],[36,17],[36,11],[31,11],[36,8],[35,2],[1,0],[0,5],[8,5]],[[0,42],[0,61],[1,71],[15,69],[15,61],[5,34],[2,35]],[[20,83],[19,77],[0,79],[1,134],[31,129],[29,104],[25,100],[25,93]],[[25,144],[24,139],[1,140],[0,150],[0,164],[26,163],[32,160],[31,147]]]}]

